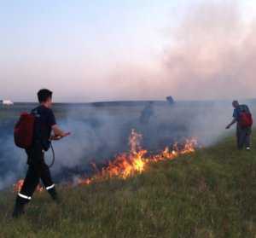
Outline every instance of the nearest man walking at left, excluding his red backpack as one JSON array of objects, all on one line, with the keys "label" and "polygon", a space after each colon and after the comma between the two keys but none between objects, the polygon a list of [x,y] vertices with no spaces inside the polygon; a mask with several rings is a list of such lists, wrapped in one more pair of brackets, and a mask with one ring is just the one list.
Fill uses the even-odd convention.
[{"label": "nearest man walking at left, excluding his red backpack", "polygon": [[[32,146],[26,149],[28,170],[23,186],[16,198],[14,218],[20,217],[24,213],[24,206],[32,200],[32,194],[38,187],[40,179],[52,199],[59,201],[49,166],[44,161],[44,152],[49,149],[50,140],[60,140],[70,133],[61,131],[56,125],[55,115],[51,110],[52,92],[50,90],[39,90],[38,102],[39,106],[32,110],[32,114],[36,118]],[[52,131],[54,132],[53,135],[51,135]]]}]

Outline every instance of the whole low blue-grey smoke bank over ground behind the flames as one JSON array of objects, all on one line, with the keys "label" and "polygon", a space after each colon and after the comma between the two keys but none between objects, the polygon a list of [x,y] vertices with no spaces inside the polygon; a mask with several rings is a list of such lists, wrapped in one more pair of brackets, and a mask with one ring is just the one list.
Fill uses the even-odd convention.
[{"label": "whole low blue-grey smoke bank over ground behind the flames", "polygon": [[[254,104],[248,103],[251,108]],[[202,146],[210,146],[226,136],[224,128],[230,122],[232,113],[230,102],[177,102],[172,106],[167,102],[154,102],[153,116],[148,124],[142,124],[140,116],[143,108],[140,103],[132,107],[118,103],[101,107],[55,108],[61,128],[72,132],[72,136],[53,142],[55,165],[51,170],[55,182],[82,174],[90,175],[90,162],[102,165],[116,154],[128,151],[131,129],[143,135],[142,147],[149,152],[159,152],[190,136],[196,137]],[[24,177],[26,154],[15,148],[13,122],[8,125],[2,122],[0,125],[0,189],[4,189]],[[49,150],[46,163],[51,160]]]}]

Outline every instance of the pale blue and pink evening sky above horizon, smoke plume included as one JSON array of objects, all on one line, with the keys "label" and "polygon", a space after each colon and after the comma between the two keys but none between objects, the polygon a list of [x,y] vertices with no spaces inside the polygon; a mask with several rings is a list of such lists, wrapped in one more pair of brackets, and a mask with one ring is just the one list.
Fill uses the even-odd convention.
[{"label": "pale blue and pink evening sky above horizon, smoke plume included", "polygon": [[0,0],[0,99],[253,97],[255,15],[253,0]]}]

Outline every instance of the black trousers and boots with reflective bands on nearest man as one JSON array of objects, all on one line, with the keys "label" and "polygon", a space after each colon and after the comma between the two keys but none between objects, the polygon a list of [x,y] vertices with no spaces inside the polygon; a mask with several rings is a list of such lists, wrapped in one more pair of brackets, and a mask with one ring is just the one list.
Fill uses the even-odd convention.
[{"label": "black trousers and boots with reflective bands on nearest man", "polygon": [[52,182],[49,166],[44,162],[44,150],[40,143],[26,150],[28,170],[23,186],[17,195],[14,216],[23,212],[26,203],[32,200],[32,194],[38,187],[40,179],[54,200],[57,200],[55,184]]}]

